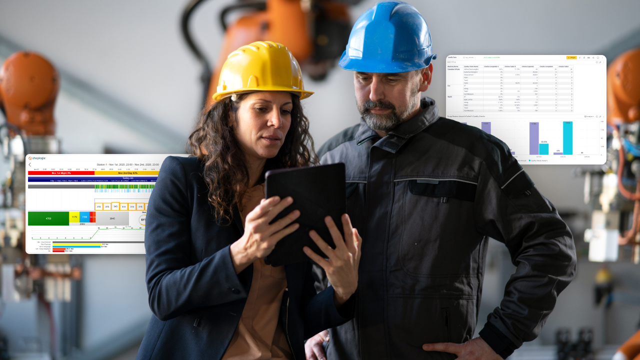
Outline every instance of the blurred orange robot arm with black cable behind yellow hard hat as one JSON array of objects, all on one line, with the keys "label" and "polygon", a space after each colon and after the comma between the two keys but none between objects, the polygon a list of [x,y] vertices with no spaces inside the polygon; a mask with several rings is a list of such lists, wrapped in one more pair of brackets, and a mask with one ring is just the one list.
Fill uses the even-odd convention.
[{"label": "blurred orange robot arm with black cable behind yellow hard hat", "polygon": [[[351,32],[349,5],[362,0],[238,0],[220,12],[225,38],[218,62],[211,63],[193,41],[189,20],[205,0],[190,1],[182,13],[182,35],[189,49],[202,65],[204,104],[211,104],[216,93],[220,70],[227,56],[239,47],[256,41],[284,44],[300,63],[303,72],[314,80],[322,80],[346,48]],[[232,24],[227,15],[238,10],[250,11]]]}]

